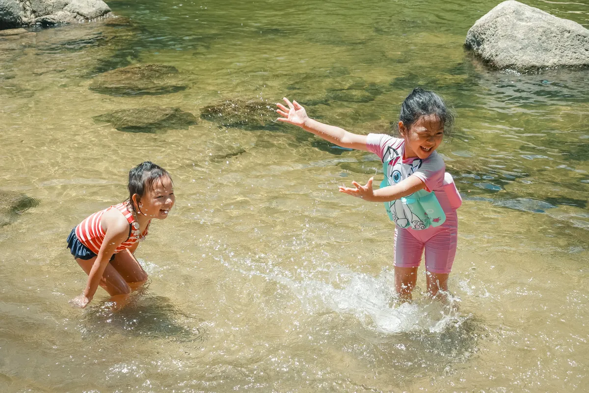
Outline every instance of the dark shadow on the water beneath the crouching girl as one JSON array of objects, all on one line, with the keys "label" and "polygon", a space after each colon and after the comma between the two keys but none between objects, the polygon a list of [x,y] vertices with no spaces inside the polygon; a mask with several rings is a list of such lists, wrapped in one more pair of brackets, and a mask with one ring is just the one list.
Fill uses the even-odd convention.
[{"label": "dark shadow on the water beneath the crouching girl", "polygon": [[178,309],[165,296],[135,295],[122,309],[113,311],[111,302],[88,308],[81,331],[83,336],[123,334],[174,342],[204,342],[207,329],[203,320]]}]

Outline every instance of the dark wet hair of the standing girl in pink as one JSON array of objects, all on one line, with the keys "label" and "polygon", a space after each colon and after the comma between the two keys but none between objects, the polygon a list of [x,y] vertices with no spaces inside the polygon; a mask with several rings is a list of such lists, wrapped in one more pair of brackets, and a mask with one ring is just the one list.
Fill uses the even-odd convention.
[{"label": "dark wet hair of the standing girl in pink", "polygon": [[439,119],[440,124],[444,126],[444,135],[451,134],[452,126],[454,126],[454,114],[446,108],[444,100],[433,91],[416,87],[401,104],[399,120],[409,130],[420,117],[427,115],[435,115]]}]

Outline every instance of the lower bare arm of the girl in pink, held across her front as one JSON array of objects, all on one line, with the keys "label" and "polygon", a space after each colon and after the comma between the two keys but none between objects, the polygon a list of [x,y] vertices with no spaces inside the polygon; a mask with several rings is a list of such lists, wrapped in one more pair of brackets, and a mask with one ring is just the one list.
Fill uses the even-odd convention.
[{"label": "lower bare arm of the girl in pink, held across her front", "polygon": [[352,181],[354,188],[339,186],[339,191],[351,196],[362,198],[369,202],[391,202],[402,197],[411,195],[412,193],[425,189],[425,183],[417,176],[409,176],[407,179],[401,181],[393,186],[383,187],[382,189],[372,189],[373,177],[370,177],[366,186],[360,186],[356,181]]}]

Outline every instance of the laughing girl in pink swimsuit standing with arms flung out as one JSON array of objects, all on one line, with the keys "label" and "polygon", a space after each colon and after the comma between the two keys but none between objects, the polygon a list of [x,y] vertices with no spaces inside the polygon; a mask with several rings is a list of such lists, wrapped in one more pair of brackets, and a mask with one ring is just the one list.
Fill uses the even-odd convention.
[{"label": "laughing girl in pink swimsuit standing with arms flung out", "polygon": [[[284,102],[288,108],[277,104],[277,113],[282,116],[278,121],[302,127],[337,146],[371,151],[383,161],[385,187],[373,190],[370,178],[365,186],[353,181],[353,187],[340,186],[339,190],[369,202],[385,202],[395,221],[395,285],[399,296],[411,299],[424,249],[429,295],[448,290],[458,238],[456,209],[461,201],[451,176],[445,174],[444,160],[436,152],[454,120],[444,101],[431,91],[415,88],[401,106],[401,138],[349,133],[307,117],[305,108],[296,101],[284,98]],[[421,190],[434,191],[441,207],[438,210],[443,210],[445,218],[436,217],[424,224],[408,209],[406,197]]]}]

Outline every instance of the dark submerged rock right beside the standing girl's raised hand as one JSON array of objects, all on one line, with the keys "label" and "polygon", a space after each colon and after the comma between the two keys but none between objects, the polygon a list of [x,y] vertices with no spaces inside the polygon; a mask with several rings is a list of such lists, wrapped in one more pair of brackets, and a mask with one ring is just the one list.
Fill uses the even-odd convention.
[{"label": "dark submerged rock right beside the standing girl's raised hand", "polygon": [[277,114],[272,105],[263,101],[227,100],[209,105],[201,111],[204,120],[220,123],[224,127],[244,130],[267,130],[277,128]]}]

